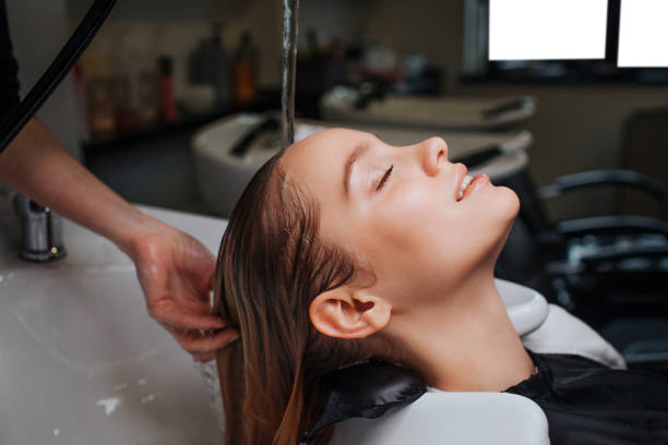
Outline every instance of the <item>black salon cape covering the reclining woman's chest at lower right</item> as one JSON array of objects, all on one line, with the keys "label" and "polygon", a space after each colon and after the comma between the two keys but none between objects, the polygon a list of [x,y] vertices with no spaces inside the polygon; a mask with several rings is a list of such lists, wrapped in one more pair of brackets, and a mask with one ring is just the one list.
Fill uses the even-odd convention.
[{"label": "black salon cape covering the reclining woman's chest at lower right", "polygon": [[538,373],[506,389],[534,400],[551,445],[668,444],[668,378],[528,351]]}]

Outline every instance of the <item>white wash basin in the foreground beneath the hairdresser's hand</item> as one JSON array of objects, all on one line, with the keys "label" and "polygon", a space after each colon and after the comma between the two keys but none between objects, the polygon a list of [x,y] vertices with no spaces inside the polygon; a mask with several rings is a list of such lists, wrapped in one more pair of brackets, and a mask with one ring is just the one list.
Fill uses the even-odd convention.
[{"label": "white wash basin in the foreground beneath the hairdresser's hand", "polygon": [[[224,220],[143,209],[217,249]],[[132,262],[63,222],[60,262],[0,251],[0,443],[222,443],[206,384],[148,317]]]}]

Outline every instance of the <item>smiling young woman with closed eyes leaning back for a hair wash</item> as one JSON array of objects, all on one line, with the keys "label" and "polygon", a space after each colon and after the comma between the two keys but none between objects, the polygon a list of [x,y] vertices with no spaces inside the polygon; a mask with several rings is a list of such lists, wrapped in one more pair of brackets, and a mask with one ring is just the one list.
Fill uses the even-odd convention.
[{"label": "smiling young woman with closed eyes leaning back for a hair wash", "polygon": [[[218,255],[219,314],[241,338],[218,353],[227,444],[296,444],[320,414],[323,373],[370,357],[440,389],[546,402],[552,442],[572,437],[558,435],[569,419],[550,417],[572,400],[549,397],[565,394],[550,386],[565,382],[552,370],[573,366],[529,354],[493,281],[517,196],[484,176],[466,185],[466,172],[441,139],[394,147],[344,129],[294,144],[258,172]],[[580,374],[616,372],[573,360]],[[668,400],[666,383],[651,383]],[[645,401],[640,424],[668,432],[668,404]]]}]

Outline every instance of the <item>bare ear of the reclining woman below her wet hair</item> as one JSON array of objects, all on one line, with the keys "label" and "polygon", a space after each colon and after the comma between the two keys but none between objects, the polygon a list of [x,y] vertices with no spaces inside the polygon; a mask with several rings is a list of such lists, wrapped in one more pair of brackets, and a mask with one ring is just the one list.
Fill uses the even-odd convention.
[{"label": "bare ear of the reclining woman below her wet hair", "polygon": [[315,297],[309,309],[320,333],[337,338],[363,338],[385,327],[392,305],[365,290],[342,286]]}]

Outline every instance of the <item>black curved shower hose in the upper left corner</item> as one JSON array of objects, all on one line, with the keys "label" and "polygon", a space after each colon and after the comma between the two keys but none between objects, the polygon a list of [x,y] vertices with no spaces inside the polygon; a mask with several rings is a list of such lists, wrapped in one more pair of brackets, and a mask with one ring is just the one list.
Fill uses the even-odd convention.
[{"label": "black curved shower hose in the upper left corner", "polygon": [[2,121],[0,125],[0,154],[14,140],[16,134],[25,127],[27,121],[37,112],[39,107],[49,98],[53,89],[62,82],[83,51],[88,47],[93,37],[107,20],[116,0],[95,0],[76,31],[62,47],[58,57],[41,74],[35,86]]}]

